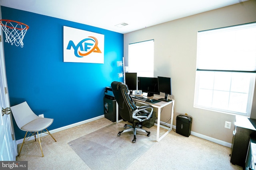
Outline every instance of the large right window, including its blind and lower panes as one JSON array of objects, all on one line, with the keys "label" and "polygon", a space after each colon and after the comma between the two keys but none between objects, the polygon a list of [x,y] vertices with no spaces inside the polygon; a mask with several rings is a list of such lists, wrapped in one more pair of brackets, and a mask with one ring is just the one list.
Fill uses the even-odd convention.
[{"label": "large right window, including its blind and lower panes", "polygon": [[198,32],[194,106],[250,116],[256,23]]}]

